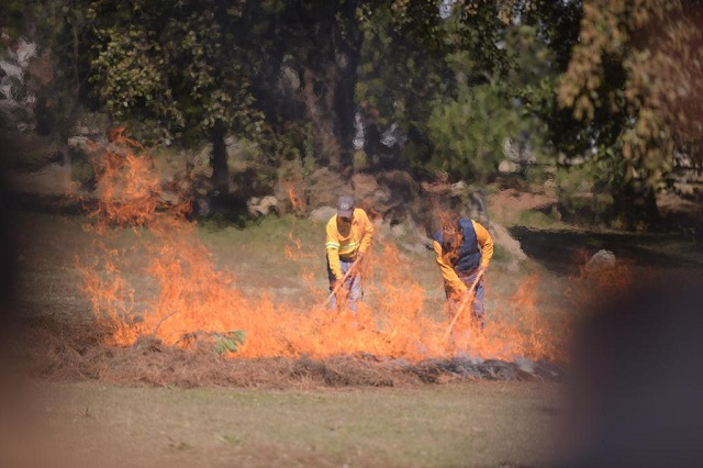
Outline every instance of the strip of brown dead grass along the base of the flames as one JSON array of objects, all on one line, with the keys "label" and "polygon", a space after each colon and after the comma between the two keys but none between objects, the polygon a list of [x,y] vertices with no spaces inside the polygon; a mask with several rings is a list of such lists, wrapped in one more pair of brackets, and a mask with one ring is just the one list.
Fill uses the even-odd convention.
[{"label": "strip of brown dead grass along the base of the flames", "polygon": [[51,380],[100,380],[155,387],[232,387],[315,389],[413,387],[471,380],[558,380],[548,364],[518,366],[468,358],[410,363],[369,354],[327,359],[232,358],[212,346],[182,349],[142,338],[127,347],[104,344],[109,330],[91,323],[60,323],[48,317],[25,322],[12,339],[11,357],[35,377]]}]

